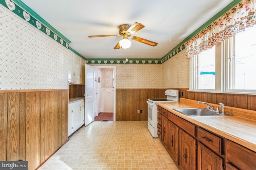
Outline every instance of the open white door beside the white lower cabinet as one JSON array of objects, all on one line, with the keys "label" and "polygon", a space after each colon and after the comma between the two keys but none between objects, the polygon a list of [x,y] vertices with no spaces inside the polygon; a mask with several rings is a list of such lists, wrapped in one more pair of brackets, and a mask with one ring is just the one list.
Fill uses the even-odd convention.
[{"label": "open white door beside the white lower cabinet", "polygon": [[94,121],[94,67],[85,64],[85,122],[87,126]]}]

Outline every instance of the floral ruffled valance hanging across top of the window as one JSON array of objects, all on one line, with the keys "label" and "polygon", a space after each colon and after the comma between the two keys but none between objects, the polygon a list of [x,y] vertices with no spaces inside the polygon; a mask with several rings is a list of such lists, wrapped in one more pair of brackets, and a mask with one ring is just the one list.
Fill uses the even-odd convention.
[{"label": "floral ruffled valance hanging across top of the window", "polygon": [[185,43],[190,58],[212,48],[216,43],[256,25],[256,0],[242,0],[234,8],[215,20],[209,27]]}]

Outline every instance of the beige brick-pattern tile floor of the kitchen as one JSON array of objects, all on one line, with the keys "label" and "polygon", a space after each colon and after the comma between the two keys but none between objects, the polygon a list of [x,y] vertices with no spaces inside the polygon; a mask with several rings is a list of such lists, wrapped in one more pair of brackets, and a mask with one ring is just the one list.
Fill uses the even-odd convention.
[{"label": "beige brick-pattern tile floor of the kitchen", "polygon": [[94,121],[39,170],[178,170],[147,121]]}]

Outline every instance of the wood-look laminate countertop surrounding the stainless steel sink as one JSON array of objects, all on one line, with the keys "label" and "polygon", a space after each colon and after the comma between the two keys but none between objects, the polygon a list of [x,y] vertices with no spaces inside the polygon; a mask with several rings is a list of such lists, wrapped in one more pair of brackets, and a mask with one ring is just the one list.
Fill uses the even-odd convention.
[{"label": "wood-look laminate countertop surrounding the stainless steel sink", "polygon": [[[220,135],[226,139],[234,141],[256,152],[256,121],[255,120],[246,119],[236,115],[234,116],[193,116],[192,117],[192,116],[183,115],[182,113],[179,113],[178,111],[173,110],[174,108],[202,108],[202,107],[206,108],[206,105],[204,104],[198,105],[197,101],[195,103],[191,104],[190,102],[186,102],[186,100],[184,100],[183,102],[160,102],[156,104],[174,113],[175,115],[191,123],[194,123],[195,125],[198,125],[209,131],[212,131],[217,135]],[[227,112],[233,113],[232,109],[234,109],[234,107],[227,108],[228,110]],[[240,114],[243,114],[242,112],[245,113],[246,109],[239,109],[239,111],[240,111]],[[251,110],[247,110],[247,111],[249,111],[249,113],[255,112],[254,116],[256,116],[256,111],[251,111]]]}]

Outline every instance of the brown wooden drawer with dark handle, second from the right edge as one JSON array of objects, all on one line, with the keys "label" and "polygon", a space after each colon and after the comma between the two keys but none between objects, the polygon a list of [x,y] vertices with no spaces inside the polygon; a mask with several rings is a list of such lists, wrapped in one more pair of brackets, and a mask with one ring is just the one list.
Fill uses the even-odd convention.
[{"label": "brown wooden drawer with dark handle, second from the right edge", "polygon": [[213,135],[212,133],[198,127],[197,139],[214,152],[222,154],[222,139],[220,137],[217,137],[216,135]]}]

